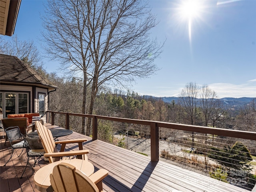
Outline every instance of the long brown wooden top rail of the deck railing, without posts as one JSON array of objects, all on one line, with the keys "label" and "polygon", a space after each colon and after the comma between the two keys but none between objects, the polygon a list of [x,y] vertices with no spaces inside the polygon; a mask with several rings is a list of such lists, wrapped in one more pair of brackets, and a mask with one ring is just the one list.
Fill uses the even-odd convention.
[{"label": "long brown wooden top rail of the deck railing, without posts", "polygon": [[133,123],[133,124],[142,124],[142,125],[148,125],[148,126],[154,123],[156,124],[156,126],[162,127],[162,128],[170,128],[170,129],[177,129],[177,130],[184,130],[184,131],[191,131],[191,132],[200,132],[200,133],[207,133],[207,134],[216,134],[220,136],[229,136],[234,138],[256,140],[256,132],[249,132],[249,131],[242,131],[242,130],[230,130],[230,129],[223,129],[223,128],[212,128],[212,127],[205,127],[205,126],[195,126],[195,125],[176,124],[176,123],[158,122],[158,121],[150,121],[150,120],[138,120],[138,119],[128,119],[128,118],[119,118],[119,117],[99,116],[99,115],[90,115],[90,114],[78,114],[78,113],[67,113],[67,112],[56,112],[56,111],[47,111],[47,112],[52,112],[56,114],[68,114],[70,116],[84,116],[89,118],[92,118],[95,116],[98,119],[126,122],[126,123]]}]

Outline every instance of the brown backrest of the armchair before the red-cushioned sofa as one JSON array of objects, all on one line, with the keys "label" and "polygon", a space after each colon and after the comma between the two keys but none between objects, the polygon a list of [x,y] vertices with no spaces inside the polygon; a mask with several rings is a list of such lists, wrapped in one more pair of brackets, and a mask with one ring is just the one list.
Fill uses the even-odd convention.
[{"label": "brown backrest of the armchair before the red-cushioned sofa", "polygon": [[26,134],[28,118],[4,118],[2,119],[2,124],[4,128],[18,126],[22,134]]}]

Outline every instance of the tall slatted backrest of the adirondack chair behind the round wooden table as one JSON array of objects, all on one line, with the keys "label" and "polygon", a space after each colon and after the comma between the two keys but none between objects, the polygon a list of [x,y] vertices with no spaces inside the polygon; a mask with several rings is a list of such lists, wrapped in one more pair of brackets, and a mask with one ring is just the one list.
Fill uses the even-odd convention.
[{"label": "tall slatted backrest of the adirondack chair behind the round wooden table", "polygon": [[[36,121],[36,130],[38,132],[38,136],[42,142],[42,145],[44,147],[44,151],[46,153],[54,153],[58,152],[54,139],[52,137],[52,132],[46,128],[46,126],[42,125],[41,122]],[[49,162],[52,163],[55,160],[59,160],[59,158],[49,158]]]}]

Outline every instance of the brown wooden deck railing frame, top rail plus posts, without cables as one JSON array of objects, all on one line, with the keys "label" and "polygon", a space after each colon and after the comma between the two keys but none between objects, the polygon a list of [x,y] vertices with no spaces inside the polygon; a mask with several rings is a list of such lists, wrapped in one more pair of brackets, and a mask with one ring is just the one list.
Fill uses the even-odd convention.
[{"label": "brown wooden deck railing frame, top rail plus posts, without cables", "polygon": [[[92,118],[92,139],[93,140],[98,139],[97,138],[97,132],[98,132],[97,120],[98,119],[150,126],[151,160],[154,162],[159,161],[159,127],[176,129],[176,130],[184,130],[184,131],[190,131],[190,132],[213,134],[213,135],[219,135],[219,136],[228,136],[233,138],[256,140],[256,132],[229,130],[229,129],[223,129],[223,128],[211,128],[211,127],[204,127],[204,126],[192,126],[192,125],[185,125],[185,124],[175,124],[175,123],[149,121],[149,120],[137,120],[137,119],[117,118],[117,117],[108,117],[108,116],[99,116],[99,115],[56,112],[56,111],[47,111],[48,123],[51,123],[52,125],[54,125],[55,114],[62,114],[66,116],[66,125],[65,125],[66,129],[69,129],[70,116]],[[49,117],[51,117],[51,122]]]}]

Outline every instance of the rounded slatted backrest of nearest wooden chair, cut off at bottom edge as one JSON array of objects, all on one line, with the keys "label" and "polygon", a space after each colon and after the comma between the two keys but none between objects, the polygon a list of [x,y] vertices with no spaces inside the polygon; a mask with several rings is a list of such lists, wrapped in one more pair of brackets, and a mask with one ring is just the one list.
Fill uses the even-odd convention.
[{"label": "rounded slatted backrest of nearest wooden chair, cut off at bottom edge", "polygon": [[54,192],[99,192],[88,176],[68,163],[60,163],[53,168],[50,182]]}]

